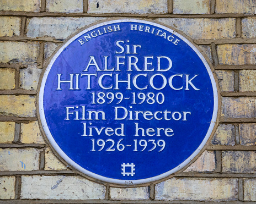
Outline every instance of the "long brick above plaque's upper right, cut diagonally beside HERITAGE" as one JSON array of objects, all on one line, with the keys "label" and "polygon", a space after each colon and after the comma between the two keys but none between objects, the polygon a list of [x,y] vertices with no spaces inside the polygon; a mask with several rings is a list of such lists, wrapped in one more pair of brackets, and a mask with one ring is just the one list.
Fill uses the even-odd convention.
[{"label": "long brick above plaque's upper right, cut diagonally beside HERITAGE", "polygon": [[226,19],[160,18],[158,21],[173,26],[184,34],[197,39],[218,39],[236,37],[236,21]]}]

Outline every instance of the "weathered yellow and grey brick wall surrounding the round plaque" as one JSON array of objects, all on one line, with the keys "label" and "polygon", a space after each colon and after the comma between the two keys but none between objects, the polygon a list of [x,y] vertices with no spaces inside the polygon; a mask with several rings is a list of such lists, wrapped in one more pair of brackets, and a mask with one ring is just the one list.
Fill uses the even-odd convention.
[{"label": "weathered yellow and grey brick wall surrounding the round plaque", "polygon": [[[0,203],[256,201],[255,8],[253,0],[0,0]],[[111,17],[183,31],[210,58],[220,85],[220,125],[207,150],[184,172],[148,186],[81,177],[39,130],[36,89],[46,60],[77,30]]]}]

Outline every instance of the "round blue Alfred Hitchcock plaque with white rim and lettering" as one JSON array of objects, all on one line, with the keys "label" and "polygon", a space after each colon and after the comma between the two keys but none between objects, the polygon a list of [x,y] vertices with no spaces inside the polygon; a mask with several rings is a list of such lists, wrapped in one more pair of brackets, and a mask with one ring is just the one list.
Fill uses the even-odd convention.
[{"label": "round blue Alfred Hitchcock plaque with white rim and lettering", "polygon": [[72,167],[114,184],[143,184],[186,166],[213,134],[218,93],[193,43],[151,21],[88,27],[51,58],[40,121]]}]

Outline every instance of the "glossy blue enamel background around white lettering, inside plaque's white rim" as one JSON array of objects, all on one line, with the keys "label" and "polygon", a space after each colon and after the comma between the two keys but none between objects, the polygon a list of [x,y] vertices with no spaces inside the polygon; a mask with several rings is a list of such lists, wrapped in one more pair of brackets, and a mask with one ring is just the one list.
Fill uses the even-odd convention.
[{"label": "glossy blue enamel background around white lettering, inside plaque's white rim", "polygon": [[[110,24],[120,25],[121,31],[108,32],[104,35],[99,35],[92,38],[88,42],[81,45],[78,42],[83,36],[90,34],[92,31],[103,29],[98,27],[92,31],[89,31],[82,36],[79,36],[76,40],[70,43],[57,57],[54,64],[51,67],[49,75],[47,76],[45,89],[44,89],[44,112],[47,126],[50,133],[57,145],[60,146],[63,152],[66,153],[74,162],[76,162],[82,168],[89,172],[102,175],[103,177],[121,179],[121,180],[137,180],[156,177],[157,175],[168,172],[169,170],[179,166],[185,161],[191,154],[199,147],[202,140],[209,129],[212,114],[214,110],[214,93],[210,76],[207,73],[204,63],[195,51],[187,45],[179,37],[171,34],[168,31],[164,31],[168,35],[173,35],[178,38],[180,42],[174,45],[173,42],[169,42],[164,37],[157,36],[144,31],[131,30],[130,22]],[[144,25],[143,23],[136,23],[137,25]],[[150,27],[159,29],[156,26],[150,25]],[[163,31],[163,29],[161,29]],[[84,39],[84,38],[83,38]],[[129,40],[129,43],[127,42]],[[115,51],[120,52],[120,48],[116,46],[116,41],[125,41],[125,45],[141,45],[141,48],[137,49],[138,54],[116,54]],[[124,44],[122,44],[124,45]],[[120,65],[121,71],[97,71],[96,67],[91,65],[88,71],[83,71],[89,62],[90,57],[94,56],[100,69],[104,69],[104,57],[108,57],[108,69],[116,68],[116,56],[126,56],[125,65]],[[127,71],[127,57],[136,56],[139,60],[137,63],[138,68],[143,69],[143,57],[153,56],[153,66],[157,68],[157,57],[167,56],[172,60],[172,68],[169,71],[136,71],[132,67],[132,71]],[[168,67],[167,60],[161,61],[163,68]],[[95,74],[97,77],[92,77],[91,89],[87,90],[87,77],[83,76],[79,78],[80,90],[68,90],[70,85],[67,83],[61,84],[62,90],[57,89],[58,78],[57,74],[61,75],[61,80],[68,80],[69,74]],[[138,86],[144,87],[148,85],[146,90],[137,90],[131,83],[131,89],[127,90],[127,84],[121,83],[120,90],[103,90],[98,85],[98,79],[102,74],[113,74],[113,78],[109,76],[105,77],[103,82],[106,87],[114,84],[114,74],[119,74],[120,79],[127,80],[127,74],[131,74],[131,79],[137,74],[147,74],[147,78],[140,76],[138,78]],[[170,76],[174,74],[183,74],[183,78],[176,77],[173,79],[174,87],[184,88],[182,90],[173,90],[168,85],[162,90],[154,90],[150,84],[150,78],[154,74],[163,74],[168,80]],[[196,78],[193,84],[200,90],[194,90],[189,85],[189,90],[185,90],[185,75],[189,75],[191,79],[194,75]],[[76,86],[75,76],[73,77],[73,87]],[[154,85],[156,87],[162,86],[161,77],[157,76],[154,79]],[[113,86],[114,87],[114,86]],[[107,104],[92,104],[92,92],[96,95],[98,92],[121,92],[124,97],[130,100],[123,100],[121,103],[116,104],[119,100],[115,99],[112,103]],[[153,92],[155,95],[159,92],[164,94],[163,104],[148,104],[143,102],[142,104],[131,104],[132,92],[148,93]],[[106,99],[106,98],[105,98]],[[106,99],[108,102],[109,100]],[[136,100],[140,102],[140,100]],[[70,109],[70,112],[79,111],[79,120],[74,120],[75,115],[70,114],[70,120],[66,119],[66,107],[76,107],[74,110]],[[106,120],[82,120],[82,106],[87,111],[104,111]],[[132,108],[130,108],[132,106]],[[139,120],[129,120],[129,117],[123,120],[114,120],[115,109],[114,107],[125,107],[128,111],[170,111],[170,112],[191,112],[187,115],[187,120],[146,120],[140,114]],[[75,113],[74,113],[75,114]],[[123,114],[120,113],[119,117]],[[161,115],[161,114],[159,114]],[[88,117],[88,114],[87,114]],[[160,116],[159,116],[160,117]],[[99,117],[101,118],[101,117]],[[134,115],[135,118],[135,115]],[[102,134],[94,136],[82,136],[83,135],[83,123],[87,123],[88,126],[110,128],[120,128],[120,123],[124,124],[125,136],[112,136],[105,135],[103,130]],[[92,123],[92,125],[89,125]],[[166,136],[161,133],[161,136],[134,136],[135,135],[135,123],[138,123],[139,128],[171,128],[173,129],[173,136]],[[95,131],[94,131],[95,133]],[[95,150],[92,150],[92,140],[95,140]],[[115,151],[106,151],[106,148],[111,145],[111,142],[106,142],[102,151],[98,151],[97,140],[113,139],[115,141]],[[126,146],[124,151],[116,150],[117,142],[121,141],[121,144],[132,145]],[[141,152],[142,147],[137,144],[137,150],[134,150],[134,140],[164,140],[166,146],[163,151],[158,152],[160,147],[156,147],[155,150],[148,152],[153,146],[151,142],[148,142],[147,148]],[[134,163],[135,175],[122,175],[121,164],[122,163]],[[129,168],[127,168],[129,171]]]}]

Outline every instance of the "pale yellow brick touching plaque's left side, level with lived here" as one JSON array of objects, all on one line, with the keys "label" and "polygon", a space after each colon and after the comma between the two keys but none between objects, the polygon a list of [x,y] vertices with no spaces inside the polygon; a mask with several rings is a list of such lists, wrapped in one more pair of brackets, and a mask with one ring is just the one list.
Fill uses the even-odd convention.
[{"label": "pale yellow brick touching plaque's left side, level with lived here", "polygon": [[37,121],[30,121],[28,124],[22,123],[20,125],[20,141],[25,144],[45,144]]}]

